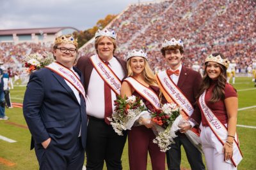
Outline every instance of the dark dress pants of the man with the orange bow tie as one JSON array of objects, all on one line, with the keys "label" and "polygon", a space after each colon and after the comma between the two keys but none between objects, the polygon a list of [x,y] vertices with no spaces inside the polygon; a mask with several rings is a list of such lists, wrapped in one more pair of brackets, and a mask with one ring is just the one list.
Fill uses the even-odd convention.
[{"label": "dark dress pants of the man with the orange bow tie", "polygon": [[181,150],[183,145],[186,156],[192,170],[205,169],[202,153],[189,141],[183,134],[174,139],[175,144],[172,144],[170,150],[166,152],[166,160],[169,170],[180,170]]}]

